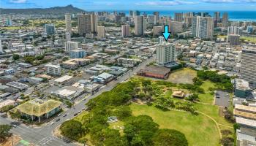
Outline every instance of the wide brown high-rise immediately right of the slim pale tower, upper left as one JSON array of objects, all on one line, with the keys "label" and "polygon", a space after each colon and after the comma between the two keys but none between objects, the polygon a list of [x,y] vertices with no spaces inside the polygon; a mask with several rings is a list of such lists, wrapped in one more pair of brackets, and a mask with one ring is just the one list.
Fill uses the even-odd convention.
[{"label": "wide brown high-rise immediately right of the slim pale tower, upper left", "polygon": [[91,33],[91,15],[85,13],[78,15],[78,33],[80,35]]}]

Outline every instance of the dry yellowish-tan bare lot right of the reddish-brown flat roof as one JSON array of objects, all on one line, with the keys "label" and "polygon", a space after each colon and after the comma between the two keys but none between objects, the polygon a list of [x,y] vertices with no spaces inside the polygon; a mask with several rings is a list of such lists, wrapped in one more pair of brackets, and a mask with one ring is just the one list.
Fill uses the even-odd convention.
[{"label": "dry yellowish-tan bare lot right of the reddish-brown flat roof", "polygon": [[197,72],[193,69],[184,68],[178,69],[177,71],[171,72],[167,81],[173,83],[193,83],[193,78],[197,76]]}]

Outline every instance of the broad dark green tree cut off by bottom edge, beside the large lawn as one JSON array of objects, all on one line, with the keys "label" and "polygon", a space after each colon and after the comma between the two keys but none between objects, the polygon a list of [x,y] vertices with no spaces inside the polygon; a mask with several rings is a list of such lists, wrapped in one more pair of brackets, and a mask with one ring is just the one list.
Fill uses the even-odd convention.
[{"label": "broad dark green tree cut off by bottom edge, beside the large lawn", "polygon": [[187,146],[189,145],[184,134],[173,129],[159,129],[153,138],[154,146]]}]

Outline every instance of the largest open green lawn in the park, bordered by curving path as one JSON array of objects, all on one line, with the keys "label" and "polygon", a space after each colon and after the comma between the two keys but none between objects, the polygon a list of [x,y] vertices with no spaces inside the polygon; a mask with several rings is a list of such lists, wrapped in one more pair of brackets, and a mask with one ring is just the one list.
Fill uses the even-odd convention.
[{"label": "largest open green lawn in the park, bordered by curving path", "polygon": [[204,115],[167,111],[148,105],[131,104],[133,115],[149,115],[159,128],[173,128],[185,134],[190,146],[219,145],[219,133],[214,121]]}]

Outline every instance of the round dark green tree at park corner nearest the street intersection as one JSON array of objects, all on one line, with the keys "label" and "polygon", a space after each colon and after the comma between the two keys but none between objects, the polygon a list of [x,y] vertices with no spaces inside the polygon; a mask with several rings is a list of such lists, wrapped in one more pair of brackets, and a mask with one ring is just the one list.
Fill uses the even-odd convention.
[{"label": "round dark green tree at park corner nearest the street intersection", "polygon": [[70,139],[78,140],[83,134],[82,123],[78,120],[67,120],[61,125],[61,134]]}]

